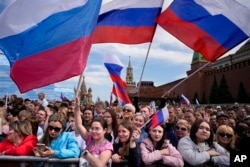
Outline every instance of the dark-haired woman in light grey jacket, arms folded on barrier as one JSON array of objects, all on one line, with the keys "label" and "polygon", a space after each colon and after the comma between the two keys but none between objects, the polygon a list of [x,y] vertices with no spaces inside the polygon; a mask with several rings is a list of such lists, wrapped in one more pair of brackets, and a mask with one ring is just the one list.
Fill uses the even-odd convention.
[{"label": "dark-haired woman in light grey jacket, arms folded on barrier", "polygon": [[219,156],[219,153],[213,147],[213,138],[210,124],[205,119],[196,120],[191,127],[190,136],[181,138],[178,143],[185,166],[214,166],[212,157]]}]

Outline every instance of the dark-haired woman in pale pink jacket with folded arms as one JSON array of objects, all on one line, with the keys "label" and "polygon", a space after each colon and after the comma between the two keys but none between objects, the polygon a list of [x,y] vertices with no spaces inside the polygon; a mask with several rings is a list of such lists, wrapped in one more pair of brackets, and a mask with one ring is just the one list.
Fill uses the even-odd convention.
[{"label": "dark-haired woman in pale pink jacket with folded arms", "polygon": [[179,151],[165,138],[163,125],[149,129],[149,137],[140,144],[142,161],[146,167],[182,167],[183,159]]}]

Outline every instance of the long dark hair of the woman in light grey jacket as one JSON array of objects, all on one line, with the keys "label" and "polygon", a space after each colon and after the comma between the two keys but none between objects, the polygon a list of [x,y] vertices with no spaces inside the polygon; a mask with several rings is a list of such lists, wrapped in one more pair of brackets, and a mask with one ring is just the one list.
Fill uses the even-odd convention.
[{"label": "long dark hair of the woman in light grey jacket", "polygon": [[209,138],[206,140],[206,142],[208,143],[208,145],[211,147],[213,146],[213,139],[214,139],[214,135],[213,135],[213,129],[211,127],[211,125],[209,124],[209,122],[205,119],[198,119],[196,120],[192,127],[191,127],[191,130],[190,130],[190,138],[192,139],[192,141],[195,143],[195,144],[198,144],[197,142],[197,137],[196,137],[196,132],[198,131],[199,127],[200,127],[200,124],[203,123],[203,122],[206,122],[209,127],[210,127],[210,136]]}]

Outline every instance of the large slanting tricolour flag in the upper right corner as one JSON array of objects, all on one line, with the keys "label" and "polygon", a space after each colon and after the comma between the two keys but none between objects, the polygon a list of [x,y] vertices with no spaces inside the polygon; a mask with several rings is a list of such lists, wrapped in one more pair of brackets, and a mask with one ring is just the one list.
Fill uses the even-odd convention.
[{"label": "large slanting tricolour flag in the upper right corner", "polygon": [[249,18],[234,0],[174,0],[157,23],[213,62],[250,36]]}]

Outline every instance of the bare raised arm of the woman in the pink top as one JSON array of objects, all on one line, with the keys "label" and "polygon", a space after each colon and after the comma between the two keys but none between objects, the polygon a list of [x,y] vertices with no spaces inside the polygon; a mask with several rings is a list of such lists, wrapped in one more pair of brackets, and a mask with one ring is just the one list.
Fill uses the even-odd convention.
[{"label": "bare raised arm of the woman in the pink top", "polygon": [[80,99],[76,97],[76,104],[75,104],[75,124],[76,128],[79,131],[82,138],[86,141],[89,133],[87,129],[82,125],[82,118],[81,118],[81,109],[80,109]]}]

